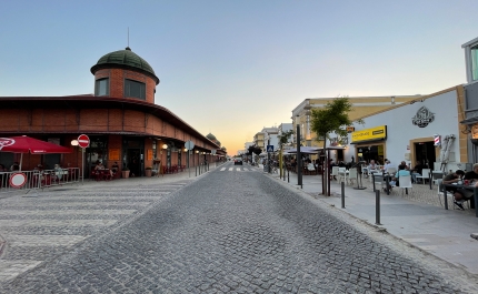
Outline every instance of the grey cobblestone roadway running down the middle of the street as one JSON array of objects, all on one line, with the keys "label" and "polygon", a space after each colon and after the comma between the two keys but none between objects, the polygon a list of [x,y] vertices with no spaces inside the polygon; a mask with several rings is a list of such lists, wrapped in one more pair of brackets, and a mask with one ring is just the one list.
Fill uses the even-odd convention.
[{"label": "grey cobblestone roadway running down the middle of the street", "polygon": [[3,283],[0,292],[467,293],[472,287],[422,262],[421,252],[400,252],[358,225],[259,171],[216,170],[128,223]]}]

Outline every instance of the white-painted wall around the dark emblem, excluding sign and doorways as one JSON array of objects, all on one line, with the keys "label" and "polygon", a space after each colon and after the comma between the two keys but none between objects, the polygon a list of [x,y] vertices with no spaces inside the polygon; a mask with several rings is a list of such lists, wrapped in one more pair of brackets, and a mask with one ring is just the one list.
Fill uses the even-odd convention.
[{"label": "white-painted wall around the dark emblem, excluding sign and doorways", "polygon": [[[435,121],[429,123],[426,128],[419,128],[411,123],[411,119],[424,105],[435,113]],[[449,160],[451,162],[459,162],[459,123],[457,93],[455,90],[431,97],[424,102],[406,104],[404,107],[366,118],[364,121],[365,124],[355,124],[356,131],[384,124],[387,125],[385,154],[392,164],[400,163],[400,161],[405,160],[405,153],[410,153],[411,150],[407,150],[407,146],[410,144],[410,140],[434,136],[434,134],[440,134],[442,139],[445,135],[449,134],[454,134],[456,136],[451,146]],[[351,134],[349,134],[349,142],[351,142]],[[410,145],[409,148],[412,149],[414,146]],[[349,161],[352,155],[355,156],[355,145],[349,144],[345,154],[346,160]],[[454,158],[451,158],[451,155],[454,155]],[[407,161],[407,163],[410,162]],[[415,162],[411,163],[411,165],[415,165]]]}]

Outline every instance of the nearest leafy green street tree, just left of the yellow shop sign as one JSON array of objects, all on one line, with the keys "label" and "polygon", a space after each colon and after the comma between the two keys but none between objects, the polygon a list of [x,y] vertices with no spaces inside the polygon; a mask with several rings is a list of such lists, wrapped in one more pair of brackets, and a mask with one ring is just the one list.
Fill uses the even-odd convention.
[{"label": "nearest leafy green street tree, just left of the yellow shop sign", "polygon": [[[330,133],[338,136],[347,136],[346,126],[352,124],[349,113],[353,111],[348,97],[336,98],[321,109],[312,109],[310,113],[310,129],[317,134],[317,141],[323,140],[323,154],[326,154],[327,139]],[[357,122],[364,123],[361,120]],[[328,162],[325,162],[325,171],[328,171]],[[329,176],[327,176],[329,178]],[[327,179],[327,181],[330,181]],[[325,181],[322,181],[322,193],[326,193]],[[330,191],[329,193],[330,194]]]}]

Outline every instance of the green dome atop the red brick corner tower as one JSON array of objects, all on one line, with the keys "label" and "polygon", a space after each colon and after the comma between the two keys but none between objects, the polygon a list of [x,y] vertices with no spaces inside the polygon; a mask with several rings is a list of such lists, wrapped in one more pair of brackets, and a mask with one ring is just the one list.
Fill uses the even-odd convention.
[{"label": "green dome atop the red brick corner tower", "polygon": [[151,75],[156,80],[156,83],[159,83],[158,77],[156,77],[155,71],[152,70],[151,65],[140,58],[138,54],[131,51],[129,47],[127,47],[125,50],[118,50],[114,52],[110,52],[102,58],[100,58],[91,68],[91,73],[94,74],[100,69],[104,68],[111,68],[111,67],[121,67],[121,68],[132,68],[133,70],[140,70],[143,73]]}]

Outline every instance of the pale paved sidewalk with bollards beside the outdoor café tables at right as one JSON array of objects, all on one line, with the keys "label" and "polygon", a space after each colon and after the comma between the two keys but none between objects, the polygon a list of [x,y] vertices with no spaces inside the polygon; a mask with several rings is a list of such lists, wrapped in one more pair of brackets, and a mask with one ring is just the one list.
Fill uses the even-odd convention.
[{"label": "pale paved sidewalk with bollards beside the outdoor caf\u00e9 tables at right", "polygon": [[[262,170],[262,166],[259,166]],[[345,203],[341,209],[341,187],[337,181],[330,184],[331,196],[321,195],[321,176],[303,175],[302,189],[297,185],[297,174],[289,173],[289,181],[279,179],[279,174],[270,174],[277,181],[288,183],[307,194],[330,204],[330,209],[340,210],[370,225],[376,225],[376,194],[369,180],[364,180],[365,190],[353,190],[346,185]],[[478,241],[470,235],[478,233],[478,217],[475,210],[452,210],[452,204],[446,211],[441,206],[420,203],[425,194],[431,193],[434,200],[439,200],[437,190],[428,185],[419,185],[410,191],[408,197],[401,195],[399,189],[387,195],[380,193],[380,225],[391,235],[428,252],[446,262],[464,268],[478,276]],[[429,196],[429,195],[427,195]],[[439,204],[438,204],[439,205]]]}]

